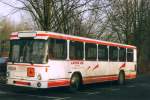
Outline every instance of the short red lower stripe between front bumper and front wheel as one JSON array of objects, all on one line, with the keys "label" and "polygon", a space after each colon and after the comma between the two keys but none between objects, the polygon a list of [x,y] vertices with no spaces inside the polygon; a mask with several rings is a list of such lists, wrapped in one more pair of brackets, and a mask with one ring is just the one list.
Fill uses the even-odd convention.
[{"label": "short red lower stripe between front bumper and front wheel", "polygon": [[70,80],[56,80],[48,82],[48,87],[57,87],[57,86],[69,86]]}]

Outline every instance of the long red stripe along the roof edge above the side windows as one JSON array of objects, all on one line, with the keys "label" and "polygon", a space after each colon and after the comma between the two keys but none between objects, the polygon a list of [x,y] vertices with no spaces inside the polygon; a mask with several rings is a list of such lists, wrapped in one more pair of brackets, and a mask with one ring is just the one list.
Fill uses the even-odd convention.
[{"label": "long red stripe along the roof edge above the side windows", "polygon": [[90,40],[90,39],[81,39],[81,38],[76,38],[76,37],[71,37],[71,36],[61,36],[61,35],[56,35],[56,34],[38,33],[38,34],[36,34],[36,36],[48,36],[48,37],[57,38],[57,39],[65,39],[65,40],[87,42],[87,43],[96,43],[96,44],[109,45],[109,46],[118,46],[118,47],[122,47],[122,48],[132,48],[132,49],[136,48],[134,46],[129,46],[129,45],[124,46],[121,44],[115,44],[115,43],[109,43],[109,42],[97,41],[97,40]]}]

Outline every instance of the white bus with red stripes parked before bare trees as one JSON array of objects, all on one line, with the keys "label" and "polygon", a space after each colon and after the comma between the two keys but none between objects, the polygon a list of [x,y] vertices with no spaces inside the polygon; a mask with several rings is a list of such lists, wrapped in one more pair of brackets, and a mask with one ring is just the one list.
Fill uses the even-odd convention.
[{"label": "white bus with red stripes parked before bare trees", "polygon": [[125,45],[55,32],[13,32],[7,84],[31,88],[67,86],[136,78],[137,50]]}]

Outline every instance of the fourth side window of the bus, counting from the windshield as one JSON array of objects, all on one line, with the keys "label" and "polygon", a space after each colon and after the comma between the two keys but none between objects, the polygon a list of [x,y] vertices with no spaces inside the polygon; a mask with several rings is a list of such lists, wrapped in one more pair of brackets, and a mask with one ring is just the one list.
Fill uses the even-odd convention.
[{"label": "fourth side window of the bus, counting from the windshield", "polygon": [[105,45],[98,45],[98,59],[108,61],[108,48]]}]

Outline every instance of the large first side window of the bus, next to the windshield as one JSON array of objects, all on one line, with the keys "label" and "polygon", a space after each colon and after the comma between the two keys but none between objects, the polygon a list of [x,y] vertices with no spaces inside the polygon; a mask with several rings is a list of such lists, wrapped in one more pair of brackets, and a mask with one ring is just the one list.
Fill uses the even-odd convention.
[{"label": "large first side window of the bus, next to the windshield", "polygon": [[48,56],[49,59],[66,59],[67,41],[61,39],[50,39]]}]

